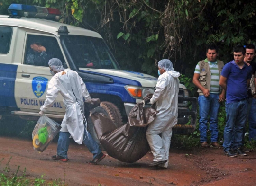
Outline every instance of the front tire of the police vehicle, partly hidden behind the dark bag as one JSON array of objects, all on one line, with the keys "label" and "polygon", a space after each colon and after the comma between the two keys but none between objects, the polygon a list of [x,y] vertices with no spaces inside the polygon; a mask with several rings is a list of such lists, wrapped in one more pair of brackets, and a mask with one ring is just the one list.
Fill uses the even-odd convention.
[{"label": "front tire of the police vehicle, partly hidden behind the dark bag", "polygon": [[[103,113],[104,115],[108,115],[114,121],[114,124],[116,125],[117,128],[122,126],[122,117],[121,117],[120,111],[118,107],[115,106],[113,103],[103,101],[101,102],[101,106],[94,108],[92,112],[98,112],[98,113]],[[95,142],[97,142],[99,146],[101,146],[90,116],[88,117],[88,120],[87,120],[87,129],[88,129],[88,132],[91,134],[92,139]]]}]

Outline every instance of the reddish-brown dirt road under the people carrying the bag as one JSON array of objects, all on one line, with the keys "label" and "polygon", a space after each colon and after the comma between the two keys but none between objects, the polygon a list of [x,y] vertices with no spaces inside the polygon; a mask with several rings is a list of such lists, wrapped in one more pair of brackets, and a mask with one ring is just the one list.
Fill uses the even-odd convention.
[{"label": "reddish-brown dirt road under the people carrying the bag", "polygon": [[[0,137],[0,172],[9,162],[11,171],[20,165],[29,177],[65,180],[70,186],[256,186],[256,152],[247,157],[229,158],[222,149],[170,151],[167,170],[149,168],[151,153],[133,164],[107,156],[99,165],[89,165],[92,156],[82,145],[71,144],[68,162],[54,161],[56,143],[43,153],[32,148],[32,142]],[[106,153],[106,152],[105,152]],[[251,158],[251,159],[250,159]]]}]

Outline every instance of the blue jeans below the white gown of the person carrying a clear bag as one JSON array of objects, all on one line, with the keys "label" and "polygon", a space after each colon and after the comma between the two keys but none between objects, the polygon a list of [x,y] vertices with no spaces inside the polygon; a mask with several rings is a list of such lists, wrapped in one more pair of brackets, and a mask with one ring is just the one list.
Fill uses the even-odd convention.
[{"label": "blue jeans below the white gown of the person carrying a clear bag", "polygon": [[[63,156],[64,158],[68,159],[67,151],[70,142],[70,133],[68,132],[60,132],[58,146],[57,146],[57,155]],[[91,134],[88,132],[88,135],[84,129],[83,134],[83,143],[89,149],[89,151],[93,154],[93,159],[96,158],[98,155],[101,154],[101,149],[99,145],[92,139]]]}]

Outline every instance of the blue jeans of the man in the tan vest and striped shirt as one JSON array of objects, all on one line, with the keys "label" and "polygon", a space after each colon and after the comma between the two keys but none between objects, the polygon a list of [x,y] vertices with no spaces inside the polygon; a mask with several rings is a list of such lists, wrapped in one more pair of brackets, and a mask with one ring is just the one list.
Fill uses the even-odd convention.
[{"label": "blue jeans of the man in the tan vest and striped shirt", "polygon": [[210,93],[209,97],[204,95],[199,96],[199,131],[200,131],[200,142],[207,141],[207,123],[210,117],[210,133],[211,142],[218,142],[218,114],[219,114],[219,94]]}]

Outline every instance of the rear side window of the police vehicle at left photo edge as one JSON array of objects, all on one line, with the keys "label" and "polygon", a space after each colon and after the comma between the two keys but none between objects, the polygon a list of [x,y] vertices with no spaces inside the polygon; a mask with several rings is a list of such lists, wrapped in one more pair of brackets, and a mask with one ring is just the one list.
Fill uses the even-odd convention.
[{"label": "rear side window of the police vehicle at left photo edge", "polygon": [[0,53],[9,53],[12,27],[0,26]]}]

